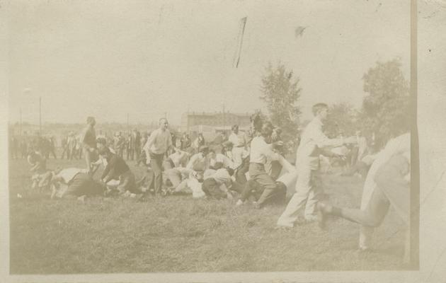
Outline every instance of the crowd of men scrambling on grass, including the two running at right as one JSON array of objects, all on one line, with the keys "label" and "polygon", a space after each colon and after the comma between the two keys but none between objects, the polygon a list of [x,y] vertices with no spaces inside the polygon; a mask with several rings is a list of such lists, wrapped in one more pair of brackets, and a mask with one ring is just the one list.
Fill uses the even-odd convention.
[{"label": "crowd of men scrambling on grass, including the two running at right", "polygon": [[[353,137],[326,137],[328,105],[318,103],[312,112],[314,119],[300,136],[294,165],[284,157],[281,129],[259,115],[251,118],[248,131],[240,132],[234,125],[229,137],[213,147],[202,135],[191,141],[185,133],[176,142],[165,118],[147,136],[135,130],[127,137],[118,132],[108,139],[96,136],[96,120],[88,117],[76,143],[84,151],[85,168],[57,168],[48,173],[45,156],[38,151],[28,154],[28,162],[35,173],[34,185],[52,186],[53,198],[83,200],[88,195],[115,194],[144,201],[151,195],[189,194],[194,198],[235,199],[236,206],[252,203],[258,209],[287,204],[277,229],[292,229],[302,218],[301,211],[304,221],[316,221],[321,227],[327,215],[339,216],[361,225],[360,248],[367,250],[371,231],[381,224],[389,206],[408,223],[410,137],[402,134],[376,152],[359,131]],[[67,152],[73,148],[72,136],[63,143]],[[137,164],[147,165],[141,180],[124,160],[124,151],[127,161],[135,158]],[[348,169],[343,174],[365,177],[361,209],[333,207],[321,201],[321,161],[331,166],[333,161],[345,164],[346,160]],[[95,180],[100,167],[103,173]],[[289,191],[294,194],[286,202]]]}]

